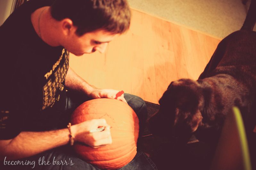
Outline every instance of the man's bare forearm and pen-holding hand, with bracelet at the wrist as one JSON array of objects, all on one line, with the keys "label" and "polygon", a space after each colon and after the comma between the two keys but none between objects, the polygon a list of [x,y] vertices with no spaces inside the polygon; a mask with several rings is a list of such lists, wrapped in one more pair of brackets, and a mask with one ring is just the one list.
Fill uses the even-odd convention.
[{"label": "man's bare forearm and pen-holding hand, with bracelet at the wrist", "polygon": [[[105,126],[102,132],[89,133],[99,126]],[[93,119],[71,126],[74,140],[93,148],[112,143],[110,127],[105,119]],[[0,160],[26,158],[69,143],[69,130],[59,129],[47,132],[21,132],[10,140],[0,140]]]}]

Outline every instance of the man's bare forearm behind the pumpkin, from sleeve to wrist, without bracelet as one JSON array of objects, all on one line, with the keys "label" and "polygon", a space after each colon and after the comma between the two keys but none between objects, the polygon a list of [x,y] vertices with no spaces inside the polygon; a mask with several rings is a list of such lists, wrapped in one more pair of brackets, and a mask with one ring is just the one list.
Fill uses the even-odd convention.
[{"label": "man's bare forearm behind the pumpkin, from sleeve to wrist, without bracelet", "polygon": [[89,95],[95,87],[89,85],[84,79],[79,77],[70,67],[66,76],[65,85],[72,90]]}]

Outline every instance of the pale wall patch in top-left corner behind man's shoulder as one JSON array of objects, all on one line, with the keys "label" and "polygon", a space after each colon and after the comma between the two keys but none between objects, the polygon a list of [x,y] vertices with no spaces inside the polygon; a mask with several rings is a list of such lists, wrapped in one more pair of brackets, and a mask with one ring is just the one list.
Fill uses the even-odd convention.
[{"label": "pale wall patch in top-left corner behind man's shoulder", "polygon": [[0,25],[9,17],[13,12],[16,0],[0,0]]}]

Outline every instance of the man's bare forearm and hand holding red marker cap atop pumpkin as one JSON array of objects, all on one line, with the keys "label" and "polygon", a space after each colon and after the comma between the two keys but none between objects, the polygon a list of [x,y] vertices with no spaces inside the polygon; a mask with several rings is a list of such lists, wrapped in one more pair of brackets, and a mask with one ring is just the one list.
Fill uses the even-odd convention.
[{"label": "man's bare forearm and hand holding red marker cap atop pumpkin", "polygon": [[[89,85],[84,79],[79,77],[70,67],[67,72],[65,85],[71,89],[83,93],[92,99],[98,98],[110,98],[114,99],[116,94],[119,92],[118,90],[112,89],[98,89],[92,85]],[[123,101],[125,103],[124,95],[122,94],[117,100]]]}]

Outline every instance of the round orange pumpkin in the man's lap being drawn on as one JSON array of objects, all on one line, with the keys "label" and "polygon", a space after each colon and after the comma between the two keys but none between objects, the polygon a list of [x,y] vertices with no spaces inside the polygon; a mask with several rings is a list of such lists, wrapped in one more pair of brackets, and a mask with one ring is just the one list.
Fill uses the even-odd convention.
[{"label": "round orange pumpkin in the man's lap being drawn on", "polygon": [[106,119],[111,126],[112,143],[96,149],[75,143],[74,150],[87,163],[100,169],[118,169],[127,165],[137,153],[139,120],[136,113],[123,101],[94,99],[74,110],[71,123],[74,125],[97,118]]}]

